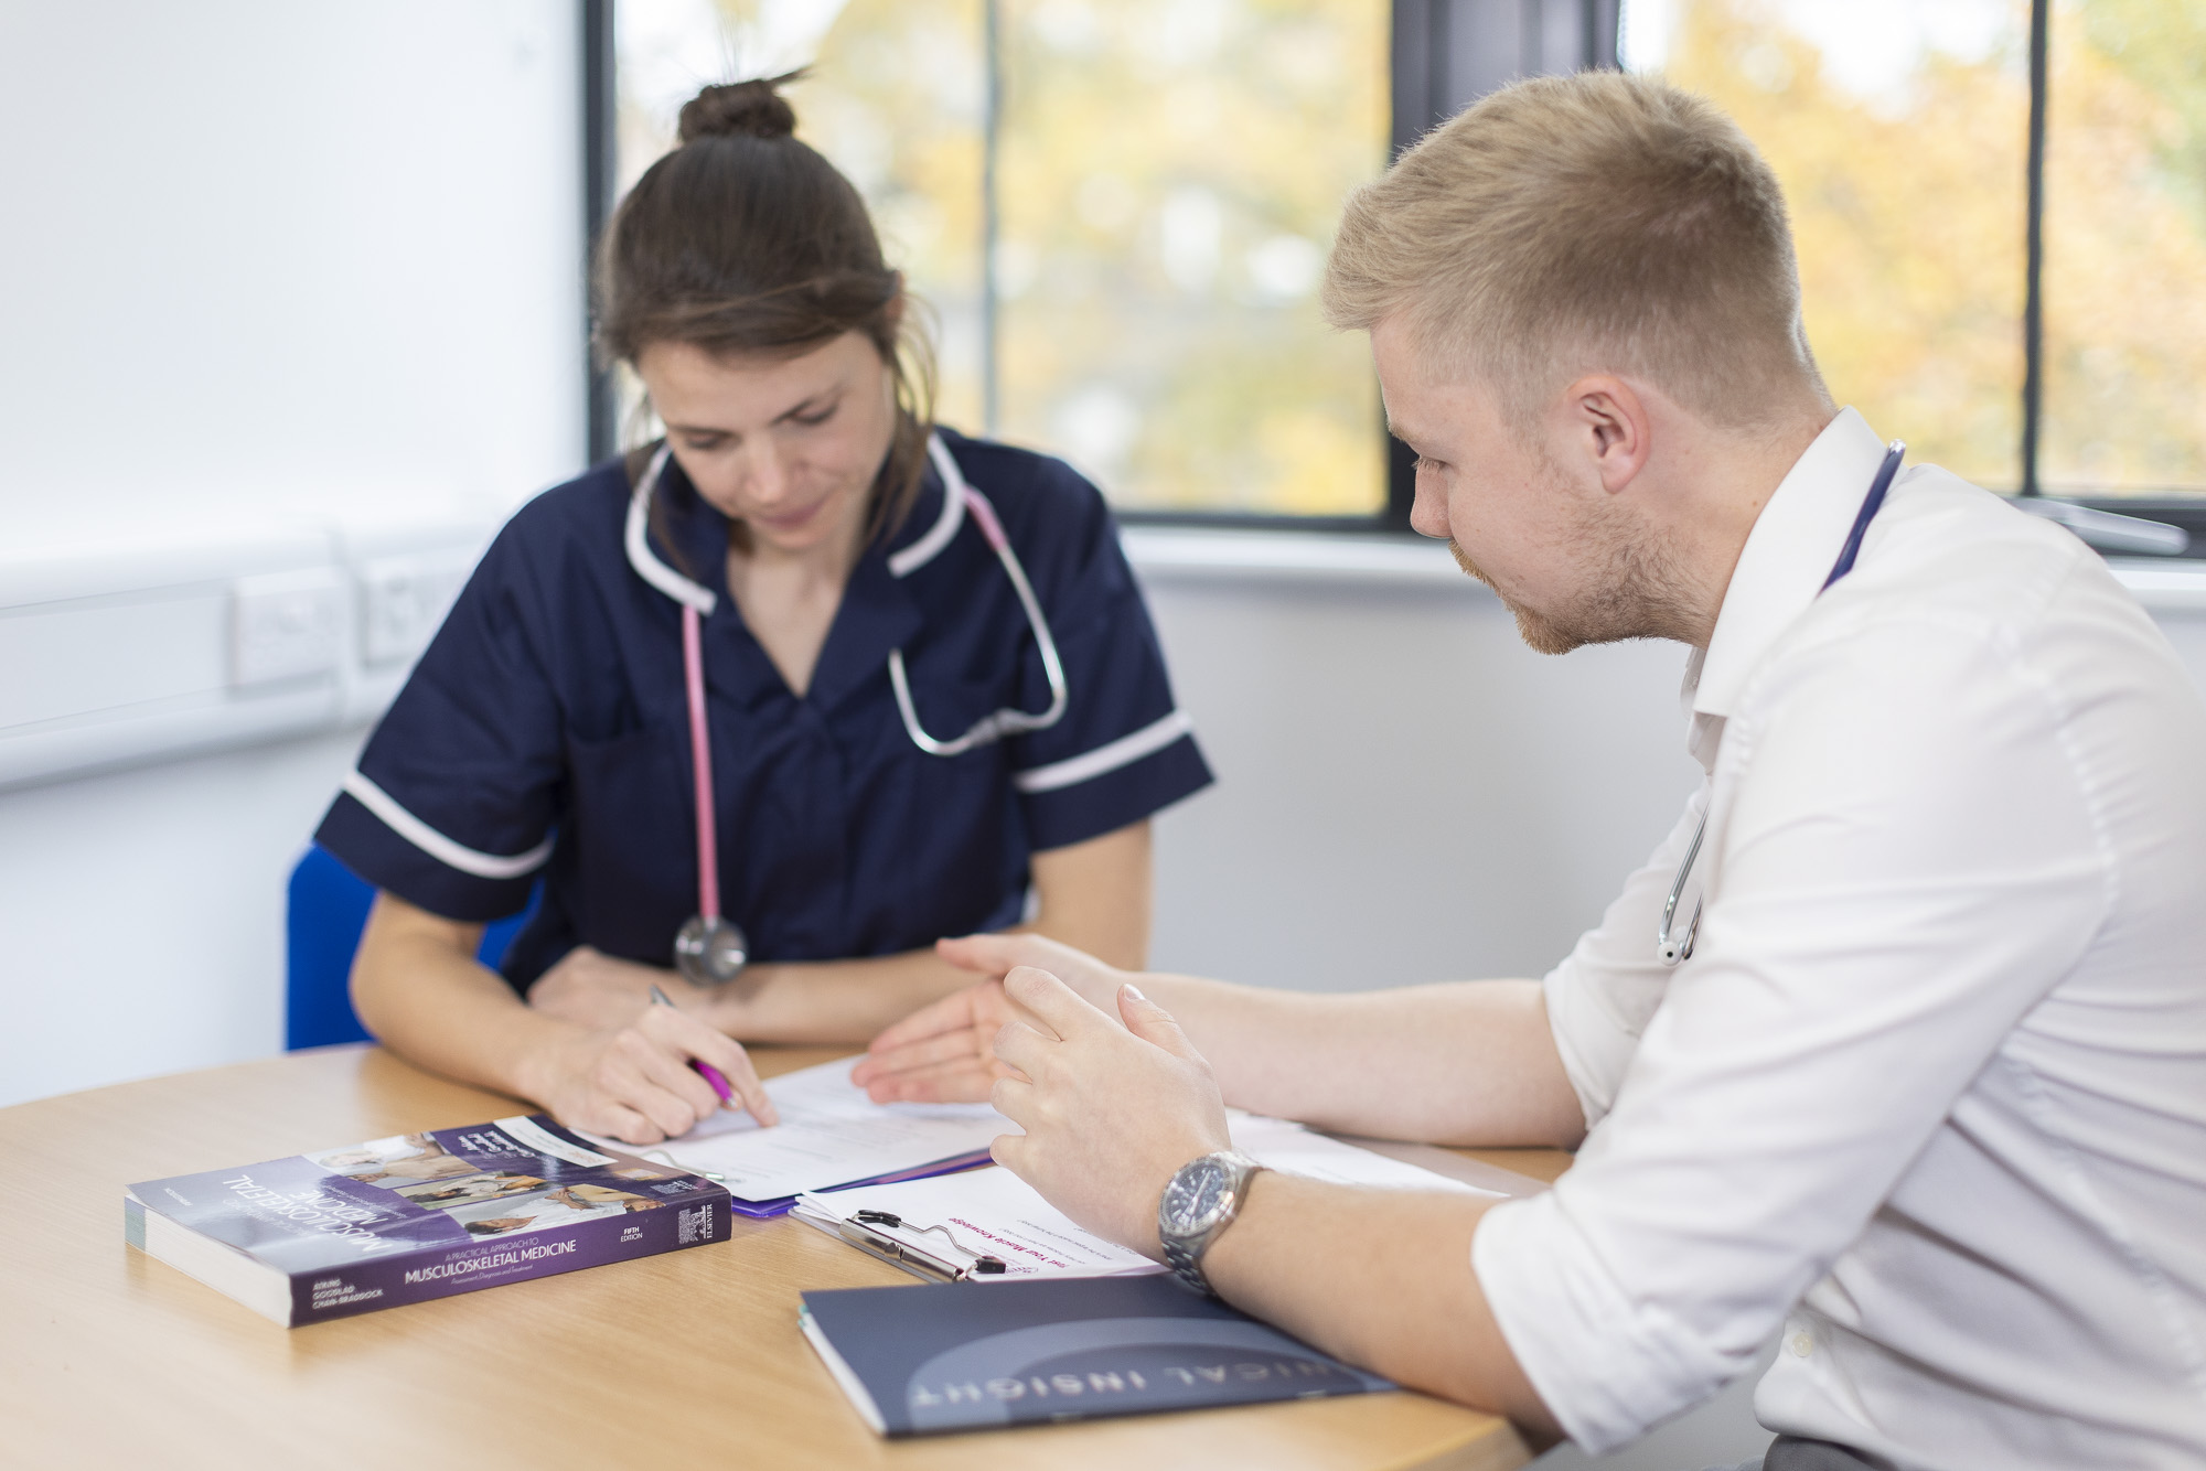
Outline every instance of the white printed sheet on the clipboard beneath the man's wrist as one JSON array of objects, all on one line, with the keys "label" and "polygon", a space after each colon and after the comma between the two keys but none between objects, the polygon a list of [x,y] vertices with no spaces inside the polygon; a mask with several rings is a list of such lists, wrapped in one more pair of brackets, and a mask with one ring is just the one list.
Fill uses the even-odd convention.
[{"label": "white printed sheet on the clipboard beneath the man's wrist", "polygon": [[[1383,1153],[1343,1145],[1284,1118],[1231,1109],[1227,1127],[1238,1149],[1284,1173],[1330,1180],[1332,1184],[1463,1191],[1500,1200],[1498,1191],[1482,1191],[1418,1164],[1403,1164]],[[1138,1250],[1127,1250],[1074,1226],[1035,1187],[997,1167],[935,1175],[933,1180],[863,1184],[796,1202],[799,1217],[829,1231],[834,1220],[854,1220],[858,1211],[900,1215],[902,1226],[867,1224],[867,1231],[915,1246],[951,1266],[968,1266],[975,1255],[1004,1261],[1002,1273],[975,1275],[971,1281],[1116,1277],[1165,1270]],[[942,1231],[927,1231],[927,1226],[944,1226],[953,1239],[946,1242]]]}]

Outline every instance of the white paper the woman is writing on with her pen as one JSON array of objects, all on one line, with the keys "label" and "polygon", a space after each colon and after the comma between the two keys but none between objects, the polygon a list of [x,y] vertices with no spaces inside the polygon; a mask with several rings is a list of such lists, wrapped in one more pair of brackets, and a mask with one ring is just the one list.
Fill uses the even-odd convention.
[{"label": "white paper the woman is writing on with her pen", "polygon": [[997,1134],[1019,1131],[986,1103],[874,1103],[849,1081],[856,1063],[843,1056],[768,1078],[765,1092],[781,1109],[772,1129],[721,1109],[649,1149],[587,1138],[717,1178],[741,1200],[781,1200],[973,1153]]}]

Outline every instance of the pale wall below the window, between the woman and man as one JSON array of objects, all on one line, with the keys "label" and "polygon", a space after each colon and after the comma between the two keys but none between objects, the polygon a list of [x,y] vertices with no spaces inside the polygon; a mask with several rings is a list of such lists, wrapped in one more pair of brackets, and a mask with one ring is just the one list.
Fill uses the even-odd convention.
[{"label": "pale wall below the window, between the woman and man", "polygon": [[1672,644],[1535,655],[1482,587],[1145,573],[1218,787],[1158,825],[1163,968],[1542,975],[1677,820]]}]

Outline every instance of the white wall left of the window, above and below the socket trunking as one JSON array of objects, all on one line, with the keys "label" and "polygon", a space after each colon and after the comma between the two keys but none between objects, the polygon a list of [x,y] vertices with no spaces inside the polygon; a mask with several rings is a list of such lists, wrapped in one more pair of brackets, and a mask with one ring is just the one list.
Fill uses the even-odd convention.
[{"label": "white wall left of the window, above and below the socket trunking", "polygon": [[[578,51],[560,0],[0,0],[0,582],[571,474]],[[0,792],[0,1105],[280,1048],[282,876],[357,741]]]}]

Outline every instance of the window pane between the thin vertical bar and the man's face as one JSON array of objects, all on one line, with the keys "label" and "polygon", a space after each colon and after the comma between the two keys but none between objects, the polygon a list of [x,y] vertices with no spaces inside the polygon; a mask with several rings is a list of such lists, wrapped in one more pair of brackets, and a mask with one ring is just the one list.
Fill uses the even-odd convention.
[{"label": "window pane between the thin vertical bar and the man's face", "polygon": [[1381,0],[1004,0],[1004,432],[1118,505],[1374,514],[1317,276],[1388,154]]}]

